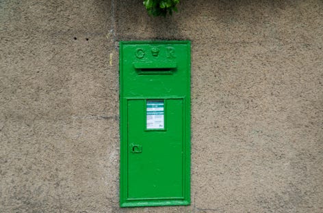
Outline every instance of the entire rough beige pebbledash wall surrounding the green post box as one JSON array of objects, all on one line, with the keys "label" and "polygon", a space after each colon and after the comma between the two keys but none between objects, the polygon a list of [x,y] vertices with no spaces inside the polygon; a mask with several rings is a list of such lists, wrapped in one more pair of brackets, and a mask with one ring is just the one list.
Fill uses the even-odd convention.
[{"label": "entire rough beige pebbledash wall surrounding the green post box", "polygon": [[[192,204],[119,208],[118,42],[192,41]],[[323,1],[0,1],[0,212],[323,212]]]}]

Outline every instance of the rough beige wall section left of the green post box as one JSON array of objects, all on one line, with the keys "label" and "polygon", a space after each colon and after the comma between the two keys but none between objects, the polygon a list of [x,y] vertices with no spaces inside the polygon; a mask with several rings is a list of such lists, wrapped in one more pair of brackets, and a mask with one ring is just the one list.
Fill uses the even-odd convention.
[{"label": "rough beige wall section left of the green post box", "polygon": [[111,14],[111,1],[0,1],[0,212],[118,212]]}]

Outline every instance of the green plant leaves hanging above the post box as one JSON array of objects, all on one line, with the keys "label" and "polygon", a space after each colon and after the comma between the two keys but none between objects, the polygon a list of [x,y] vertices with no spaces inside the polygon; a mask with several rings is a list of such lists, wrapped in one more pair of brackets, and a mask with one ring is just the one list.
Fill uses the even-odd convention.
[{"label": "green plant leaves hanging above the post box", "polygon": [[173,11],[177,12],[179,0],[144,0],[143,3],[149,15],[166,17]]}]

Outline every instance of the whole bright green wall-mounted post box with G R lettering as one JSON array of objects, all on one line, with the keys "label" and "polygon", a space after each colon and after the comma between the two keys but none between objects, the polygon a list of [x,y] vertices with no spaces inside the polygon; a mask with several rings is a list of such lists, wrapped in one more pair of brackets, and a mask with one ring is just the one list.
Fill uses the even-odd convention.
[{"label": "whole bright green wall-mounted post box with G R lettering", "polygon": [[120,42],[120,206],[190,204],[190,42]]}]

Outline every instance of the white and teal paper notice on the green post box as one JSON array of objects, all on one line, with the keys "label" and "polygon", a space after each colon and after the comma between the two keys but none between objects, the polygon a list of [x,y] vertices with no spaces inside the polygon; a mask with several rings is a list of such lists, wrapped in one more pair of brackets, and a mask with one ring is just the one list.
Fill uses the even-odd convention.
[{"label": "white and teal paper notice on the green post box", "polygon": [[164,100],[147,100],[146,126],[149,129],[164,130]]}]

